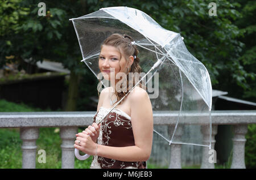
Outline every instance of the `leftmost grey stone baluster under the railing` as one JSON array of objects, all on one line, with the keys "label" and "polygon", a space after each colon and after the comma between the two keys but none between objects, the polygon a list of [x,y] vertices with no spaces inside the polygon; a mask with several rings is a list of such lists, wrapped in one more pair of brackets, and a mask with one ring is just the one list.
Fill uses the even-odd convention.
[{"label": "leftmost grey stone baluster under the railing", "polygon": [[35,127],[20,128],[20,139],[22,139],[22,168],[36,168],[36,139],[38,139],[39,130]]}]

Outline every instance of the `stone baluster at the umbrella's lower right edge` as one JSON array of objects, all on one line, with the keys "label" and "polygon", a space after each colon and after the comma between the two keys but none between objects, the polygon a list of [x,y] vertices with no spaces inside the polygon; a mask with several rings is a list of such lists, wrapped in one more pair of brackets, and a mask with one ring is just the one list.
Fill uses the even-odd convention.
[{"label": "stone baluster at the umbrella's lower right edge", "polygon": [[[206,145],[209,145],[209,126],[201,126],[201,132],[203,134],[203,143]],[[217,134],[217,125],[212,125],[212,144],[211,144],[211,148],[210,149],[214,149],[214,145],[215,145],[215,135]],[[209,162],[209,158],[210,156],[214,156],[214,158],[217,157],[215,151],[213,153],[210,153],[210,149],[209,147],[203,147],[203,156],[202,156],[202,163],[201,163],[201,169],[214,169],[214,162]],[[217,161],[217,160],[215,160]]]}]

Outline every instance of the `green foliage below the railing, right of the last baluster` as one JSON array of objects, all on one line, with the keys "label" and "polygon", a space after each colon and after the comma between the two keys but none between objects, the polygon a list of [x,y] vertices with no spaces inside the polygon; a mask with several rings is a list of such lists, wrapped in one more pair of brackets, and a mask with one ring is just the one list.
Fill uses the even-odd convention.
[{"label": "green foliage below the railing, right of the last baluster", "polygon": [[246,168],[256,168],[256,125],[248,125],[248,132],[245,136],[245,165]]}]

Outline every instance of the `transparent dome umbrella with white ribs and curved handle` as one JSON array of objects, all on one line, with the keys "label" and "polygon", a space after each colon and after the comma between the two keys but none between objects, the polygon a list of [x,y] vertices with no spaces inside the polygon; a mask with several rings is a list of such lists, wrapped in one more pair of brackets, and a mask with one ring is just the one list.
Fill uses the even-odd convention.
[{"label": "transparent dome umbrella with white ribs and curved handle", "polygon": [[[110,86],[109,81],[100,76],[98,68],[102,42],[113,33],[133,37],[132,43],[139,49],[139,64],[142,67],[139,81],[146,85],[153,110],[176,113],[175,119],[162,119],[160,122],[172,127],[170,134],[163,135],[154,127],[156,134],[168,144],[199,145],[210,149],[212,85],[209,73],[203,63],[188,52],[179,33],[162,28],[144,12],[130,7],[101,8],[70,20],[79,40],[81,62],[100,80],[98,88]],[[203,142],[202,127],[209,132],[207,143]],[[179,131],[199,131],[199,134],[180,136],[177,135]],[[81,156],[78,149],[75,149],[75,155],[80,160],[89,157]]]}]

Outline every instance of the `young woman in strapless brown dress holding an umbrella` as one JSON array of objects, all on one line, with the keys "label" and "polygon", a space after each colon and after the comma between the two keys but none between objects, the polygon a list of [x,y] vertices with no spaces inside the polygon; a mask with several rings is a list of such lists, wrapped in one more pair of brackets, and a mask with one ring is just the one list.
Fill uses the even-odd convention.
[{"label": "young woman in strapless brown dress holding an umbrella", "polygon": [[[141,72],[138,50],[131,42],[133,39],[130,36],[115,33],[106,38],[101,46],[98,66],[104,78],[110,80],[111,87],[101,91],[93,124],[76,135],[74,144],[80,151],[93,155],[91,168],[146,168],[146,161],[150,157],[153,115],[150,98],[142,84],[135,87],[97,125],[126,95],[129,83],[135,85],[136,82],[129,79],[128,73]],[[117,78],[119,73],[126,75],[126,92],[116,88],[120,81]]]}]

